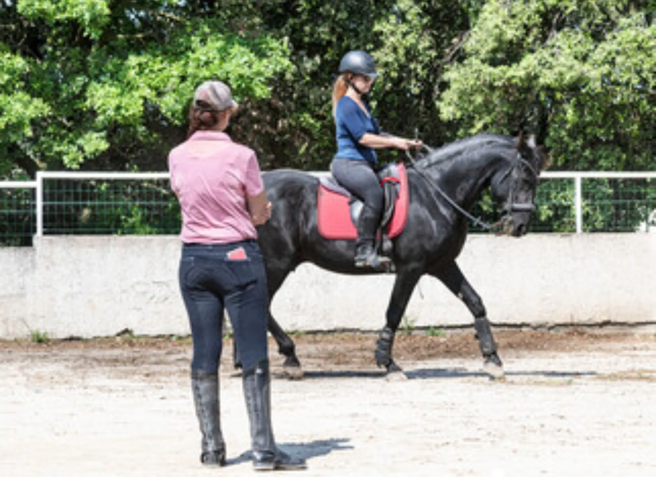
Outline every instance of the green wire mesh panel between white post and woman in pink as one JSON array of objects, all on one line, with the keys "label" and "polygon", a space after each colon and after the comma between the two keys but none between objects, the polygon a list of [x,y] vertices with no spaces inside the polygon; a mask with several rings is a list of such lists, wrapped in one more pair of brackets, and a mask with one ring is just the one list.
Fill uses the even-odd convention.
[{"label": "green wire mesh panel between white post and woman in pink", "polygon": [[43,233],[154,235],[180,232],[180,208],[163,178],[48,178]]}]

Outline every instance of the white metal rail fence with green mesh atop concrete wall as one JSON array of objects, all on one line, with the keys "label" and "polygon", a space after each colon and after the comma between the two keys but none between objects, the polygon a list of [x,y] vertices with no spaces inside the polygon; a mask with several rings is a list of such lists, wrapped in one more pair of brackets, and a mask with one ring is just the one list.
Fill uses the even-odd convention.
[{"label": "white metal rail fence with green mesh atop concrete wall", "polygon": [[[323,175],[325,172],[313,174]],[[640,224],[645,230],[656,230],[656,224],[650,223],[650,217],[651,220],[655,218],[653,211],[656,209],[656,172],[546,171],[541,174],[541,179],[536,199],[539,216],[535,228],[537,232],[545,231],[539,228],[539,220],[558,222],[561,224],[558,229],[561,232],[570,231],[577,234],[585,230],[632,231],[639,228],[636,224]],[[42,171],[37,173],[36,180],[33,181],[0,182],[0,213],[4,213],[6,217],[9,217],[10,213],[21,215],[22,220],[26,222],[24,229],[31,230],[31,234],[36,236],[62,233],[112,234],[115,232],[112,232],[111,228],[117,223],[133,226],[123,233],[158,233],[157,230],[160,230],[159,233],[165,233],[161,232],[161,228],[148,228],[147,222],[152,220],[152,217],[145,217],[143,209],[148,209],[148,213],[160,218],[161,209],[167,209],[169,217],[177,215],[177,211],[171,209],[176,206],[176,200],[169,190],[168,180],[169,174],[166,172]],[[121,190],[113,190],[118,187],[117,184],[121,184]],[[22,193],[19,194],[18,191]],[[12,197],[3,197],[3,192],[5,196]],[[541,196],[542,192],[546,195]],[[144,194],[148,195],[148,198],[144,199]],[[117,198],[119,196],[120,200]],[[12,200],[20,204],[22,212],[18,211],[18,205],[12,206]],[[66,228],[72,222],[67,219],[67,215],[83,216],[85,211],[98,213],[99,209],[103,209],[107,214],[106,218],[100,220],[107,224],[108,229],[104,232],[98,228]],[[29,218],[26,218],[27,215]],[[609,222],[610,215],[617,215],[617,220],[629,222],[614,225],[615,222]],[[49,220],[45,220],[46,217]],[[58,220],[58,225],[52,225],[52,218]],[[77,217],[75,220],[80,222]],[[594,221],[594,224],[586,224],[586,220]],[[0,239],[3,238],[2,222],[3,218],[0,217]],[[9,222],[9,219],[5,218],[4,222]],[[632,225],[626,226],[626,223]],[[134,224],[140,224],[141,228],[135,228]]]}]

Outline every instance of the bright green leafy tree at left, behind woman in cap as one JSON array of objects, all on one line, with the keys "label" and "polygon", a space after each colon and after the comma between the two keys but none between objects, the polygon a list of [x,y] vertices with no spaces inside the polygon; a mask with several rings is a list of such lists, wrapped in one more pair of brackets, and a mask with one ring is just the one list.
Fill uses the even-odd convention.
[{"label": "bright green leafy tree at left, behind woman in cap", "polygon": [[163,169],[195,87],[270,94],[283,39],[228,24],[220,2],[1,0],[0,176]]}]

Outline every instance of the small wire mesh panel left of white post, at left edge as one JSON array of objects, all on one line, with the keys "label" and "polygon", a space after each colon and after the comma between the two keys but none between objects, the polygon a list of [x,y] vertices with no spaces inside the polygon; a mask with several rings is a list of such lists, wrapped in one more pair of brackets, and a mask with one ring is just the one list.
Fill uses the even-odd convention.
[{"label": "small wire mesh panel left of white post, at left edge", "polygon": [[34,187],[0,182],[0,245],[29,247],[35,231]]}]

